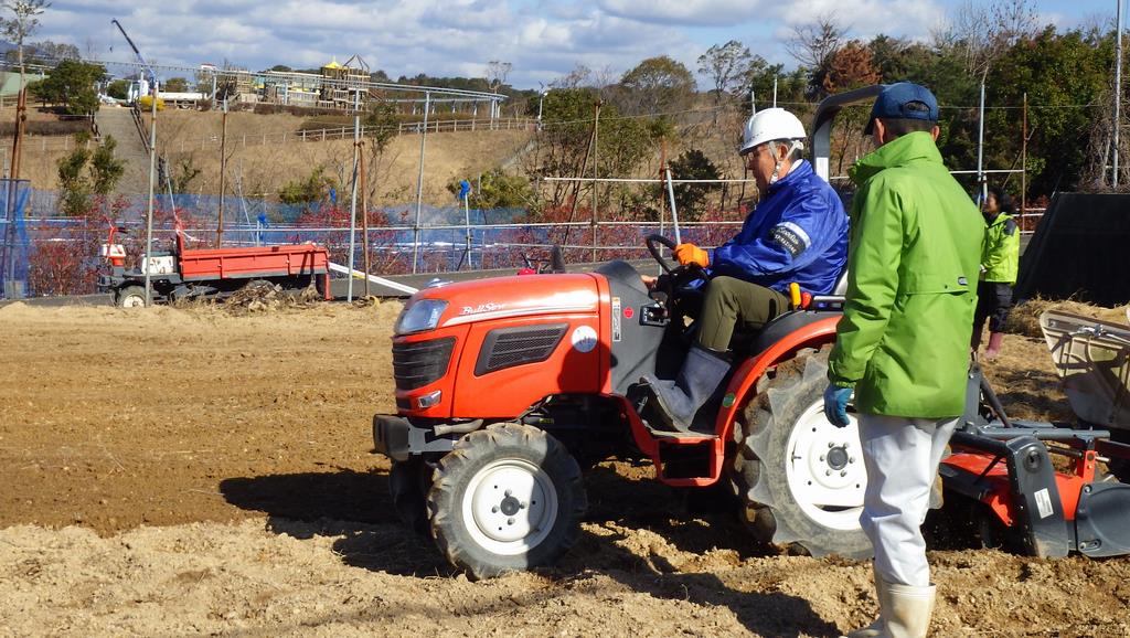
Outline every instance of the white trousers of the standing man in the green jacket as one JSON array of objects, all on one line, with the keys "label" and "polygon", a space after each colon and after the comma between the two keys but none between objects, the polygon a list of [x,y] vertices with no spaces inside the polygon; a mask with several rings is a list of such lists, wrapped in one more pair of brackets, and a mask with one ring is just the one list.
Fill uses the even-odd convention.
[{"label": "white trousers of the standing man in the green jacket", "polygon": [[887,583],[930,586],[922,523],[938,464],[957,421],[859,415],[867,466],[859,521],[875,548],[875,574]]}]

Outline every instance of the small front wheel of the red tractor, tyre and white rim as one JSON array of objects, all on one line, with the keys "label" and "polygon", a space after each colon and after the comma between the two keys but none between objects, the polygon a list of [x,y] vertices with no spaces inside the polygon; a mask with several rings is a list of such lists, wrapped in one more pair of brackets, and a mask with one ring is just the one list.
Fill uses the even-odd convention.
[{"label": "small front wheel of the red tractor, tyre and white rim", "polygon": [[440,459],[428,492],[436,544],[472,578],[549,564],[580,534],[581,469],[546,432],[495,424]]}]

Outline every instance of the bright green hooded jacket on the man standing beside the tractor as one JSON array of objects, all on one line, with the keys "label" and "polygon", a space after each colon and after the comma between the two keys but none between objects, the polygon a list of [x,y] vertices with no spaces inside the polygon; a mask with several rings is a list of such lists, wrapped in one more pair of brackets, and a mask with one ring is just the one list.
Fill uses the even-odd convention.
[{"label": "bright green hooded jacket on the man standing beside the tractor", "polygon": [[928,132],[851,171],[847,301],[828,379],[863,413],[918,419],[965,408],[984,221]]}]

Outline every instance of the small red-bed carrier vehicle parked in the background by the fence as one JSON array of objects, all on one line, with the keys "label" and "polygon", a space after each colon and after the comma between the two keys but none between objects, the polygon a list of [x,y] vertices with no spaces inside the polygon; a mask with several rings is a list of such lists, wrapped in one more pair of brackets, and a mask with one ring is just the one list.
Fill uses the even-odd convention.
[{"label": "small red-bed carrier vehicle parked in the background by the fence", "polygon": [[172,252],[141,256],[136,268],[125,268],[125,251],[114,243],[116,229],[103,245],[110,274],[98,278],[98,290],[111,292],[114,304],[145,305],[145,277],[149,273],[153,301],[169,302],[193,296],[227,296],[250,282],[269,282],[286,290],[310,285],[330,299],[330,253],[313,243],[190,249],[176,233]]}]

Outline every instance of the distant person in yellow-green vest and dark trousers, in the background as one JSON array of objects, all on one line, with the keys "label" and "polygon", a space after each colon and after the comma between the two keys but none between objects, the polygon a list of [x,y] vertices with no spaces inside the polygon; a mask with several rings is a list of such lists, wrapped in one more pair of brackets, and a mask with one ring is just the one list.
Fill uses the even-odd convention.
[{"label": "distant person in yellow-green vest and dark trousers, in the background", "polygon": [[989,190],[981,207],[985,217],[985,239],[981,243],[981,281],[977,282],[977,309],[973,316],[971,350],[981,346],[981,334],[989,320],[985,359],[1000,356],[1005,321],[1012,309],[1012,284],[1020,261],[1020,230],[1012,218],[1012,200],[1002,189]]}]

